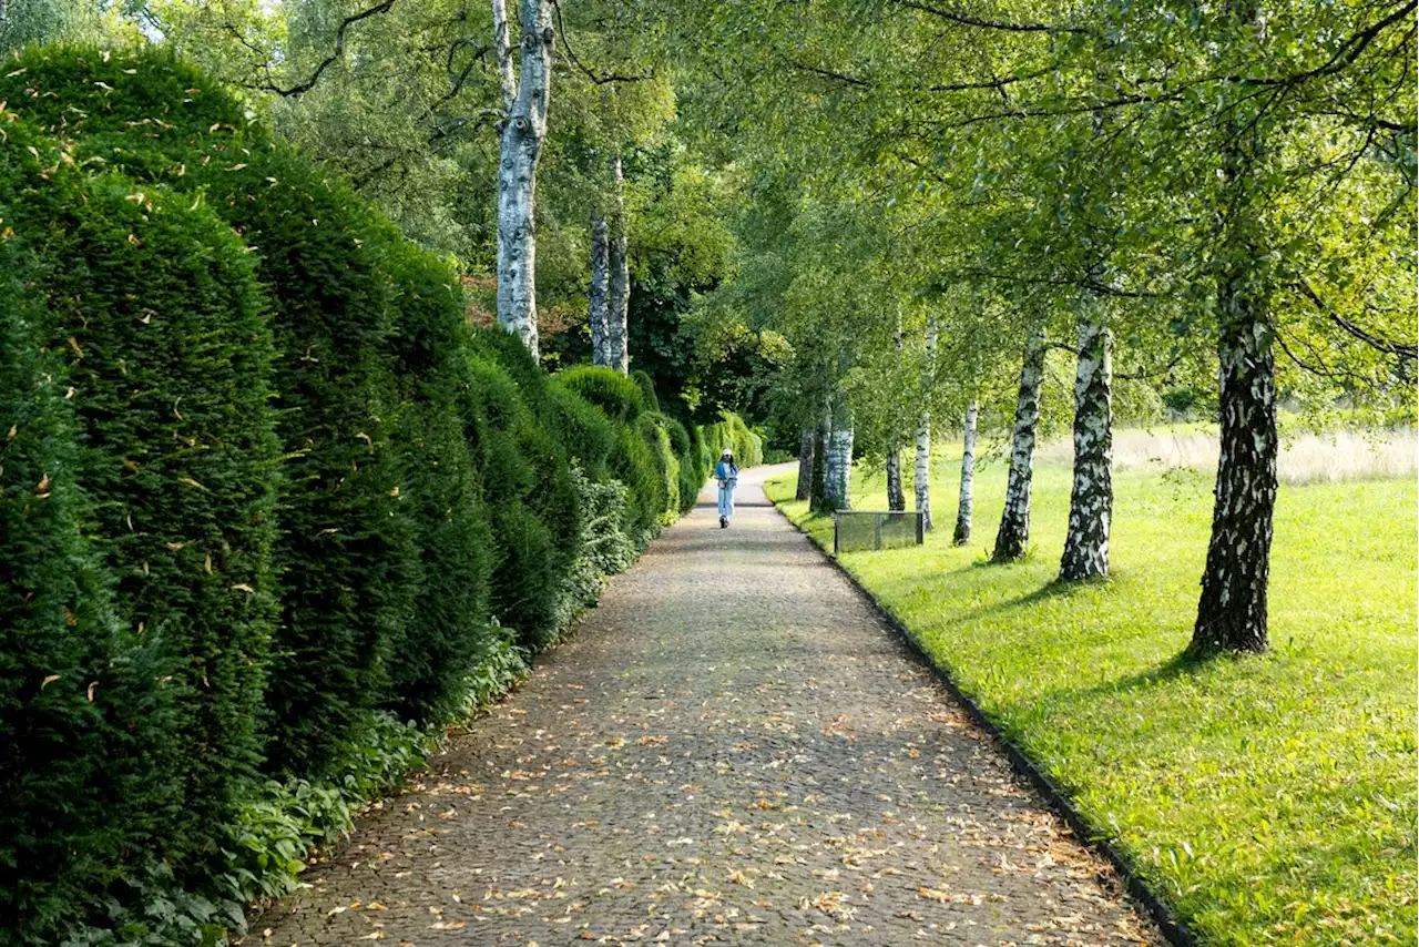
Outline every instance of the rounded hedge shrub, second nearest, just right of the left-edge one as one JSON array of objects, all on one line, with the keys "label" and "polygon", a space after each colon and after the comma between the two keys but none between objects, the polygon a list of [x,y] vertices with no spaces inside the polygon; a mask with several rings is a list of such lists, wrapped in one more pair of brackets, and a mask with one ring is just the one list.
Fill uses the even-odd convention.
[{"label": "rounded hedge shrub, second nearest, just right of the left-edge one", "polygon": [[[13,153],[7,150],[7,155]],[[211,826],[260,761],[275,619],[272,342],[251,256],[220,220],[116,175],[40,172],[0,197],[40,266],[45,342],[65,352],[119,625],[166,642],[187,684],[179,760],[190,802],[166,856]],[[187,862],[190,863],[190,862]]]}]

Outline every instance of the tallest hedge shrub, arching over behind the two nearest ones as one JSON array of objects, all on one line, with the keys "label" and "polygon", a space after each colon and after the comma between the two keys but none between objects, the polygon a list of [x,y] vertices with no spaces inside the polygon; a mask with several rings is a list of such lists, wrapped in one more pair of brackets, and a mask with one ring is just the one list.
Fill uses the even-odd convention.
[{"label": "tallest hedge shrub, arching over behind the two nearest ones", "polygon": [[0,89],[23,115],[77,135],[82,162],[199,195],[255,250],[281,352],[287,457],[267,767],[319,772],[387,694],[389,647],[410,622],[419,574],[413,517],[396,493],[397,392],[375,214],[307,158],[245,128],[234,98],[166,53],[31,50]]}]

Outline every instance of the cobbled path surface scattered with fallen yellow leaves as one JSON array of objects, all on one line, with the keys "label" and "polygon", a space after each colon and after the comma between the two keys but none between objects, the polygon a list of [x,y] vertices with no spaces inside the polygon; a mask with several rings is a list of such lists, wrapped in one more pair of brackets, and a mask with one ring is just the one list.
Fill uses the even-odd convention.
[{"label": "cobbled path surface scattered with fallen yellow leaves", "polygon": [[247,944],[1162,938],[741,481]]}]

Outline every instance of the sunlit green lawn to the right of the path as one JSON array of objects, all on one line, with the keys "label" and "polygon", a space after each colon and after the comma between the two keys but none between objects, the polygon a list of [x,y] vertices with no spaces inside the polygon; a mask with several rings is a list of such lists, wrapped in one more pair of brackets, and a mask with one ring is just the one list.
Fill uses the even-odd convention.
[{"label": "sunlit green lawn to the right of the path", "polygon": [[[1419,944],[1419,481],[1283,487],[1271,652],[1186,664],[1210,473],[1118,474],[1114,575],[1064,588],[1067,464],[1036,473],[1029,559],[995,566],[1005,471],[954,548],[954,460],[925,547],[843,565],[1179,917],[1216,944]],[[769,484],[832,548],[792,491]],[[883,478],[853,504],[885,508]]]}]

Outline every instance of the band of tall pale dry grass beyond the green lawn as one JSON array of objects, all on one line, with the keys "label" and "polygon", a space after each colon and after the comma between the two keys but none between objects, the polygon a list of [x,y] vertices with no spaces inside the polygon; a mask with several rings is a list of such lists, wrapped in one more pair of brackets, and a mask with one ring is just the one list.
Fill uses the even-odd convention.
[{"label": "band of tall pale dry grass beyond the green lawn", "polygon": [[[1069,463],[1069,439],[1040,449],[1042,461]],[[1218,436],[1193,427],[1114,432],[1114,470],[1216,470]],[[1419,429],[1340,430],[1283,439],[1277,463],[1281,483],[1341,483],[1419,477]]]}]

